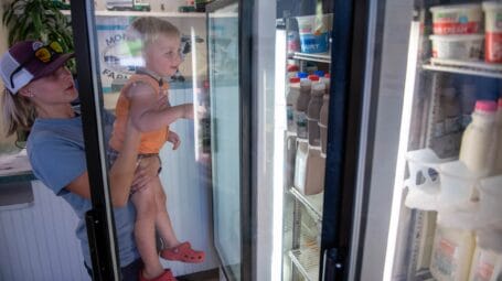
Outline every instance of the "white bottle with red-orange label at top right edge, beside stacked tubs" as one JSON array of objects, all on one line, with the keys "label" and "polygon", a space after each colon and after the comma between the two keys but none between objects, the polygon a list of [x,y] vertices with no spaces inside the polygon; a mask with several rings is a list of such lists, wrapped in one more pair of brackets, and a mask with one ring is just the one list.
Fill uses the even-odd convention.
[{"label": "white bottle with red-orange label at top right edge, beside stacked tubs", "polygon": [[502,63],[502,3],[484,1],[484,61]]}]

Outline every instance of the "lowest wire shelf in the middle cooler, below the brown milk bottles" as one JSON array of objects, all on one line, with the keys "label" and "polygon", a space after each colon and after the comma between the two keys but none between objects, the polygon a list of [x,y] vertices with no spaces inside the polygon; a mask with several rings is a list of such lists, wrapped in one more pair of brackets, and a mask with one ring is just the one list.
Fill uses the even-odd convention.
[{"label": "lowest wire shelf in the middle cooler, below the brown milk bottles", "polygon": [[311,247],[291,250],[288,256],[306,280],[317,281],[319,280],[319,248]]}]

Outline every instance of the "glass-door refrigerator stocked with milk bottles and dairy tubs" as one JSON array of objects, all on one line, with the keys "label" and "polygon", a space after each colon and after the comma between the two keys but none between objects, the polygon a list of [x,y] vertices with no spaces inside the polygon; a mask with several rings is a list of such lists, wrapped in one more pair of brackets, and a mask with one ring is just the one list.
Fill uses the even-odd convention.
[{"label": "glass-door refrigerator stocked with milk bottles and dairy tubs", "polygon": [[211,61],[228,57],[212,17],[232,4],[239,90],[226,127],[241,154],[224,170],[241,180],[218,182],[213,159],[213,201],[239,186],[238,227],[213,213],[227,279],[500,280],[500,2],[216,1],[212,110],[228,79]]}]

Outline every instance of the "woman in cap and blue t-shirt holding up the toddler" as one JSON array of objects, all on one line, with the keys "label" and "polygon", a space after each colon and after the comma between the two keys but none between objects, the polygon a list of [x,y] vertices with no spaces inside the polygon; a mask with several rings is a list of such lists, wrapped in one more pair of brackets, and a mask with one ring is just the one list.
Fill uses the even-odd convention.
[{"label": "woman in cap and blue t-shirt holding up the toddler", "polygon": [[[78,93],[70,71],[64,67],[71,57],[73,54],[64,54],[56,42],[44,45],[38,41],[23,41],[6,52],[0,61],[0,75],[6,86],[3,120],[8,134],[18,129],[30,129],[26,150],[33,173],[62,196],[81,219],[76,235],[89,269],[92,261],[84,217],[92,208],[90,188],[82,119],[71,105]],[[137,280],[141,260],[135,244],[136,212],[129,195],[146,186],[160,163],[157,159],[143,160],[150,162],[135,174],[140,132],[128,122],[126,136],[125,149],[109,170],[109,188],[122,278]],[[156,280],[175,279],[167,270]]]}]

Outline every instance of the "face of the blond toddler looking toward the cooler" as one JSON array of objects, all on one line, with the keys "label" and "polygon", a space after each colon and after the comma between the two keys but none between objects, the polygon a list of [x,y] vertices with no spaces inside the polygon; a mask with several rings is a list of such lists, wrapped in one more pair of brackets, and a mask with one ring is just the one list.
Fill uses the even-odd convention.
[{"label": "face of the blond toddler looking toward the cooler", "polygon": [[160,76],[172,76],[181,64],[181,40],[178,36],[159,35],[146,48],[146,66]]}]

